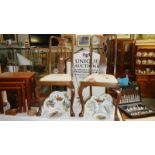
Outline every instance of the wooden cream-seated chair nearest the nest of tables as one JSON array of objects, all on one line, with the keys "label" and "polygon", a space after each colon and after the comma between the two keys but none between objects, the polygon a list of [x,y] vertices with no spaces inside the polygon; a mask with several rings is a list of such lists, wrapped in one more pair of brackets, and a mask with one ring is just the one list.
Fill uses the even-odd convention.
[{"label": "wooden cream-seated chair nearest the nest of tables", "polygon": [[[65,61],[67,59],[67,53],[70,53],[71,64],[73,62],[73,37],[69,36],[71,40],[70,46],[66,46],[65,38],[51,36],[49,40],[49,53],[48,53],[48,72],[49,74],[42,77],[39,80],[40,86],[66,86],[71,91],[71,106],[70,115],[75,116],[73,111],[74,102],[74,85],[71,74],[65,73],[66,65]],[[53,40],[57,40],[58,46],[52,46]],[[68,50],[68,51],[67,51]],[[53,67],[53,68],[52,68]],[[72,70],[72,69],[71,69]]]}]

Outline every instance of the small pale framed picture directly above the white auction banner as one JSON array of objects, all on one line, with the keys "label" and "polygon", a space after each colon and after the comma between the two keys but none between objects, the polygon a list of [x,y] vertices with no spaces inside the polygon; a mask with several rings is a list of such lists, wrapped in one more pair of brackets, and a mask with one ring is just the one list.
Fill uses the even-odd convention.
[{"label": "small pale framed picture directly above the white auction banner", "polygon": [[77,35],[77,46],[90,46],[90,35]]}]

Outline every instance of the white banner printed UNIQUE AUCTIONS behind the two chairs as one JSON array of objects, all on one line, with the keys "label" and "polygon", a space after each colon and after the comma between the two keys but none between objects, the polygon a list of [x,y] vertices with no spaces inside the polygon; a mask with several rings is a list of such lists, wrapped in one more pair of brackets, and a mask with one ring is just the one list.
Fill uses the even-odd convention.
[{"label": "white banner printed UNIQUE AUCTIONS behind the two chairs", "polygon": [[[93,52],[92,56],[92,73],[99,73],[99,60],[100,55]],[[88,50],[80,51],[74,54],[73,59],[73,80],[75,87],[75,96],[78,96],[79,82],[89,75],[90,71],[90,52]],[[104,88],[93,87],[93,95],[99,96],[105,92]],[[84,97],[88,97],[90,94],[90,88],[84,89]]]}]

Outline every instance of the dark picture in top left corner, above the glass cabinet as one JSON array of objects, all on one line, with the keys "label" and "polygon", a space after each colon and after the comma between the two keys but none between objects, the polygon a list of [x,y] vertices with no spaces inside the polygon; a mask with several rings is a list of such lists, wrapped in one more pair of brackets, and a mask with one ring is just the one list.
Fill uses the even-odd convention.
[{"label": "dark picture in top left corner, above the glass cabinet", "polygon": [[12,44],[18,43],[18,35],[17,34],[1,34],[1,42],[6,43],[7,40],[10,40]]}]

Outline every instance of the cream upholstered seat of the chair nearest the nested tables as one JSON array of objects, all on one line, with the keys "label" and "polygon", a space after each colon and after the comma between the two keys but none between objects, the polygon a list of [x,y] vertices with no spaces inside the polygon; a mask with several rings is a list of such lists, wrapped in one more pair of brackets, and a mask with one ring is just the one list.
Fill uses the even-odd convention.
[{"label": "cream upholstered seat of the chair nearest the nested tables", "polygon": [[47,81],[47,82],[59,82],[59,81],[71,81],[70,74],[49,74],[44,76],[40,79],[40,81]]}]

